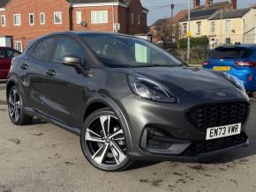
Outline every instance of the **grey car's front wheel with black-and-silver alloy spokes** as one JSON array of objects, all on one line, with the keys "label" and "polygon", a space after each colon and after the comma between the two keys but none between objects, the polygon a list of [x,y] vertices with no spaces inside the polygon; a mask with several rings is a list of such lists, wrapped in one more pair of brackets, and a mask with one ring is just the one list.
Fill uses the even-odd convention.
[{"label": "grey car's front wheel with black-and-silver alloy spokes", "polygon": [[80,134],[80,144],[87,160],[103,171],[121,171],[131,166],[126,155],[124,129],[117,115],[104,108],[90,114]]}]

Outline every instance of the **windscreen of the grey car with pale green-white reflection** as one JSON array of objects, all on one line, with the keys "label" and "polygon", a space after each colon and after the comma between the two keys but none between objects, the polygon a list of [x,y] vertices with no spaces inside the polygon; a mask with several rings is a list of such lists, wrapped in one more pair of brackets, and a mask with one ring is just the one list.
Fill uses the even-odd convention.
[{"label": "windscreen of the grey car with pale green-white reflection", "polygon": [[109,67],[179,66],[176,57],[139,38],[90,34],[81,35],[94,54]]}]

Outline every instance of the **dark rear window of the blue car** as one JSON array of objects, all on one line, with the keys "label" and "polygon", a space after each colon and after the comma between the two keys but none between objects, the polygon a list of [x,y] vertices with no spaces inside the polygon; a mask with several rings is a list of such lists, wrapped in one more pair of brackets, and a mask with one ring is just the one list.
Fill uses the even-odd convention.
[{"label": "dark rear window of the blue car", "polygon": [[249,48],[216,48],[209,59],[245,59],[252,54]]}]

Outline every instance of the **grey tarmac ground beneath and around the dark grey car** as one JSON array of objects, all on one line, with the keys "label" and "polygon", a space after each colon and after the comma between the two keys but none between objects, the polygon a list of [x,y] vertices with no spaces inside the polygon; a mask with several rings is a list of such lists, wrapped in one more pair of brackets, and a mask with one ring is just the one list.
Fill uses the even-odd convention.
[{"label": "grey tarmac ground beneath and around the dark grey car", "polygon": [[120,173],[98,171],[79,137],[49,123],[11,124],[0,83],[0,191],[255,191],[256,102],[247,148],[204,162],[139,162]]}]

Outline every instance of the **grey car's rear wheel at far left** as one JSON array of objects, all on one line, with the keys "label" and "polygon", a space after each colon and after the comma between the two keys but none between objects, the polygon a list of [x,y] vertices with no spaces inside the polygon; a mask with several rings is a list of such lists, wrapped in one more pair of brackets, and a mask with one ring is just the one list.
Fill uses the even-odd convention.
[{"label": "grey car's rear wheel at far left", "polygon": [[33,117],[24,114],[23,99],[16,85],[12,86],[8,92],[7,105],[8,113],[13,124],[26,125],[32,122]]}]

